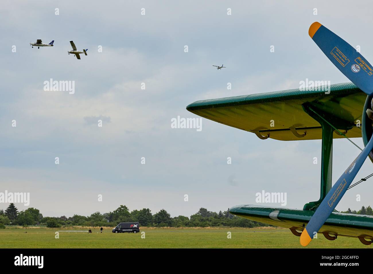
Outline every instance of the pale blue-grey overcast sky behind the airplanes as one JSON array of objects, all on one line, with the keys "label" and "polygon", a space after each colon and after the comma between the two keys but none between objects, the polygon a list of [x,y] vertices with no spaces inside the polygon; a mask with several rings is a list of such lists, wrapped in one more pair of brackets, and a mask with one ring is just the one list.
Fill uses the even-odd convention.
[{"label": "pale blue-grey overcast sky behind the airplanes", "polygon": [[[44,216],[119,205],[190,216],[256,204],[262,190],[286,192],[288,208],[319,199],[320,140],[263,141],[207,119],[200,132],[174,129],[171,119],[198,117],[185,109],[197,100],[299,88],[306,78],[349,82],[308,28],[319,21],[372,62],[370,1],[118,2],[2,1],[0,192],[29,192]],[[37,39],[54,47],[31,48]],[[88,56],[68,55],[70,40]],[[75,81],[75,93],[44,91],[50,78]],[[333,183],[359,152],[334,141]],[[367,160],[357,178],[370,173]],[[361,183],[336,209],[373,205],[372,191]]]}]

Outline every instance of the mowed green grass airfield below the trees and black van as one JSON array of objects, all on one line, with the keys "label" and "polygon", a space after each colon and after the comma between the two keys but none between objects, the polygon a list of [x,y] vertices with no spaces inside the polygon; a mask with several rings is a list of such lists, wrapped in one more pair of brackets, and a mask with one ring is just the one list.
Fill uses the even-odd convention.
[{"label": "mowed green grass airfield below the trees and black van", "polygon": [[[0,248],[304,248],[299,237],[288,229],[276,228],[140,228],[141,233],[112,233],[105,229],[101,234],[93,229],[87,232],[59,232],[57,230],[86,229],[1,229]],[[27,233],[25,233],[27,232]],[[98,233],[97,233],[98,232]],[[231,239],[227,238],[231,232]],[[358,239],[338,237],[329,241],[319,233],[306,248],[372,248]]]}]

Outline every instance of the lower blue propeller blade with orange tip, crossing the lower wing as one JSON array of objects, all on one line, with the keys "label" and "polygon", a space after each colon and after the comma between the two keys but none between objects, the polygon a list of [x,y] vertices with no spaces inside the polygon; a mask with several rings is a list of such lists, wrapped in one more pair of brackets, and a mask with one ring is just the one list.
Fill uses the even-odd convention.
[{"label": "lower blue propeller blade with orange tip, crossing the lower wing", "polygon": [[354,180],[365,159],[368,157],[370,151],[372,151],[372,148],[373,136],[370,138],[363,151],[360,152],[359,156],[350,164],[342,176],[339,177],[338,181],[330,189],[316,212],[311,217],[311,220],[308,222],[301,234],[301,245],[308,245],[313,239],[314,234],[319,232],[330,213],[332,213],[338,202],[342,199],[347,188],[351,185],[352,180]]}]

